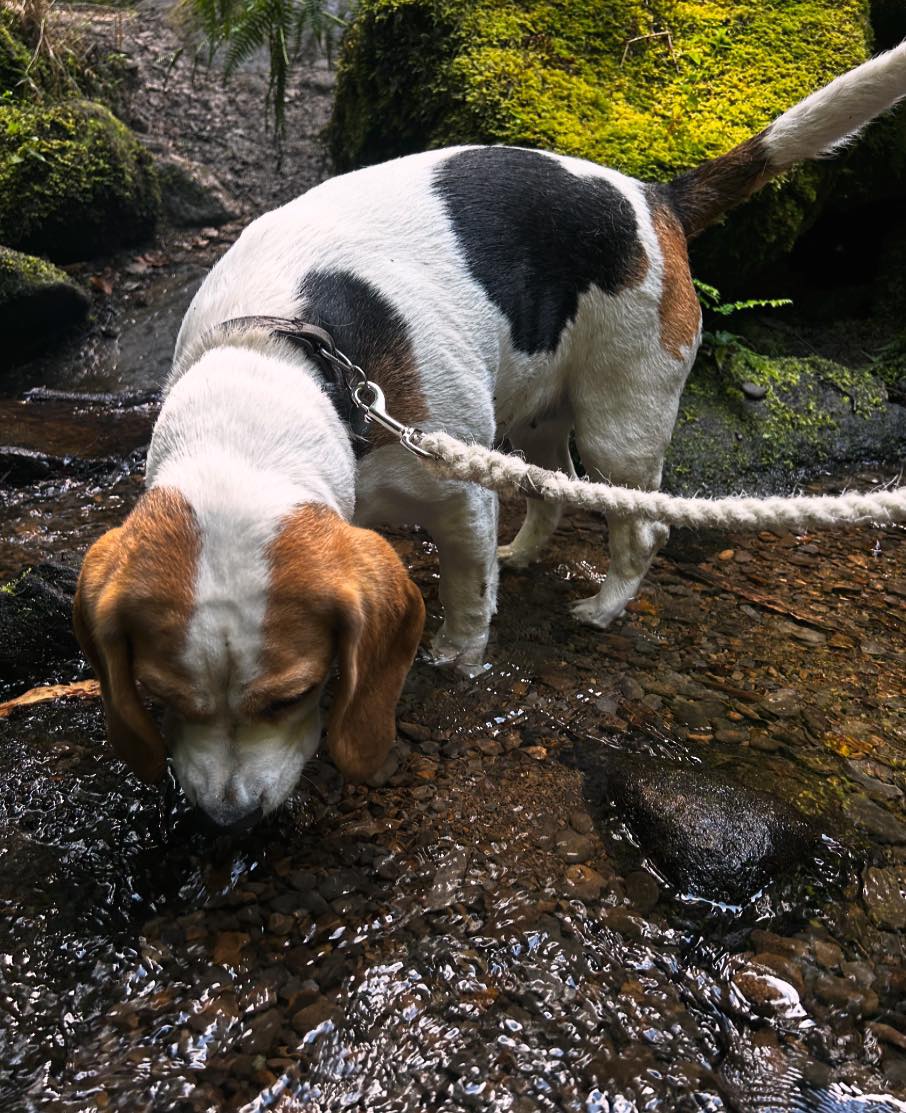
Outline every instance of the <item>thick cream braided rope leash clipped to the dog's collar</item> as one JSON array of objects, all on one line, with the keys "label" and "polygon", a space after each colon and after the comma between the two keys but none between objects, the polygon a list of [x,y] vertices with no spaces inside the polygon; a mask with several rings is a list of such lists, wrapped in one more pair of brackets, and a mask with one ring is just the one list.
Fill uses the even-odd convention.
[{"label": "thick cream braided rope leash clipped to the dog's collar", "polygon": [[680,499],[660,491],[637,491],[577,480],[519,456],[464,444],[446,433],[422,433],[418,444],[432,454],[429,467],[447,479],[477,483],[502,494],[562,502],[581,510],[647,518],[668,525],[821,529],[841,522],[906,521],[906,486],[869,494],[750,499]]}]

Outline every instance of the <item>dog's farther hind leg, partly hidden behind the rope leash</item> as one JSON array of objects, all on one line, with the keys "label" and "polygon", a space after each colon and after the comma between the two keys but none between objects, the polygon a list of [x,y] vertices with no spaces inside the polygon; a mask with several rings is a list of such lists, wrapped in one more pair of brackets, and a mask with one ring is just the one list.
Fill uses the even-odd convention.
[{"label": "dog's farther hind leg, partly hidden behind the rope leash", "polygon": [[[570,456],[572,414],[558,414],[532,425],[523,425],[510,434],[510,443],[522,452],[532,464],[565,472],[575,477]],[[525,500],[525,520],[509,545],[498,549],[498,556],[506,568],[526,568],[538,560],[560,523],[562,506],[543,499]]]}]

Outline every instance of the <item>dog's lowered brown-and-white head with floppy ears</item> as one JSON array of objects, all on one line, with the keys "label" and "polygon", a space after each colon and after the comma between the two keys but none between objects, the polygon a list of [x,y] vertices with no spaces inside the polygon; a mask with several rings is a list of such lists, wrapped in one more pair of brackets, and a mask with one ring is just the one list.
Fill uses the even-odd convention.
[{"label": "dog's lowered brown-and-white head with floppy ears", "polygon": [[[334,661],[331,755],[353,780],[381,767],[424,623],[391,545],[328,508],[253,538],[253,561],[242,530],[207,530],[178,492],[154,489],[89,549],[75,604],[117,754],[150,781],[169,749],[188,798],[224,826],[293,790]],[[163,735],[144,693],[166,708]]]}]

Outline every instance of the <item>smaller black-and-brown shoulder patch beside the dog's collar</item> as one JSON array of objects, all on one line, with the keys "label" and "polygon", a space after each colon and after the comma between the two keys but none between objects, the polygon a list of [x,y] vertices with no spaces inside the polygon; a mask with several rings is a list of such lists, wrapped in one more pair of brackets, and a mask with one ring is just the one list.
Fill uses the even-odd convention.
[{"label": "smaller black-and-brown shoulder patch beside the dog's collar", "polygon": [[[427,420],[408,326],[376,286],[351,270],[309,270],[298,296],[299,317],[326,329],[337,348],[377,383],[394,417],[408,425]],[[348,398],[334,398],[334,404],[349,423],[341,408],[352,406]],[[352,417],[361,418],[354,406]],[[370,433],[377,444],[387,440],[373,426]]]}]

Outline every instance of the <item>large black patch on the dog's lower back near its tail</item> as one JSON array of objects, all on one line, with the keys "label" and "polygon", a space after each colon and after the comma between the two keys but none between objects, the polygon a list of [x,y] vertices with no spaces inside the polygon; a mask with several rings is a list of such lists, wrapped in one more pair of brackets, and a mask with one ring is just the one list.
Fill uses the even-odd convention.
[{"label": "large black patch on the dog's lower back near its tail", "polygon": [[646,268],[636,214],[604,178],[548,155],[477,147],[434,171],[472,277],[521,352],[552,352],[590,286],[617,294]]}]

